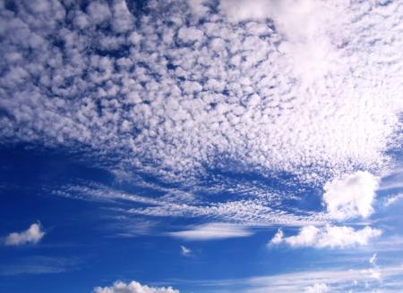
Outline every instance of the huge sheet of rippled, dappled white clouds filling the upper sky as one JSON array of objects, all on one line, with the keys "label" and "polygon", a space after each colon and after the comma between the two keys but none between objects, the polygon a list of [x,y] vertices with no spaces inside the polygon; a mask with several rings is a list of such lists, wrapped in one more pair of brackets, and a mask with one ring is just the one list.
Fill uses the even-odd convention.
[{"label": "huge sheet of rippled, dappled white clouds filling the upper sky", "polygon": [[322,182],[382,168],[402,109],[402,8],[334,3],[5,7],[0,136],[178,176],[208,164]]}]

